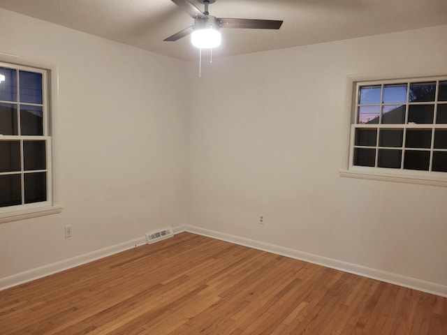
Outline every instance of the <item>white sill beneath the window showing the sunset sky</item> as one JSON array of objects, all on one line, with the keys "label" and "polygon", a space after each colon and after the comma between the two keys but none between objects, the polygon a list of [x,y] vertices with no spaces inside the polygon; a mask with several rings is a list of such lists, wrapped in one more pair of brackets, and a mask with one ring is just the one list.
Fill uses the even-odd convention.
[{"label": "white sill beneath the window showing the sunset sky", "polygon": [[340,177],[393,181],[396,183],[419,184],[447,187],[447,178],[416,176],[412,174],[393,174],[389,172],[373,172],[340,169]]}]

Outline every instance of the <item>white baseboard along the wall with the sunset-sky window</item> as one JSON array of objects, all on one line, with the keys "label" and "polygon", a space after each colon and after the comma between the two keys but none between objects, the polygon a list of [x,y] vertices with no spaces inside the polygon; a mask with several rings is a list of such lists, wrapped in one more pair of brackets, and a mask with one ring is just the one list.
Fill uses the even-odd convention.
[{"label": "white baseboard along the wall with the sunset-sky window", "polygon": [[384,281],[395,285],[400,285],[405,288],[412,288],[433,295],[439,295],[441,297],[447,297],[447,286],[437,283],[431,283],[430,281],[421,281],[420,279],[410,278],[402,276],[400,274],[393,274],[392,272],[382,271],[379,269],[372,269],[371,267],[363,267],[362,265],[356,265],[349,262],[343,262],[342,260],[334,260],[332,258],[326,258],[312,253],[305,253],[291,248],[284,248],[274,244],[268,244],[254,239],[246,239],[244,237],[238,237],[231,234],[225,234],[223,232],[216,232],[214,230],[207,230],[205,228],[196,227],[193,225],[183,225],[174,228],[174,233],[179,232],[192,232],[193,234],[199,234],[206,237],[212,237],[213,239],[220,239],[221,241],[228,241],[241,246],[248,246],[262,251],[268,251],[277,255],[284,255],[286,257],[295,258],[296,260],[304,260],[316,265],[322,265],[323,267],[330,267],[351,274],[358,274],[367,278],[376,279],[378,281]]}]

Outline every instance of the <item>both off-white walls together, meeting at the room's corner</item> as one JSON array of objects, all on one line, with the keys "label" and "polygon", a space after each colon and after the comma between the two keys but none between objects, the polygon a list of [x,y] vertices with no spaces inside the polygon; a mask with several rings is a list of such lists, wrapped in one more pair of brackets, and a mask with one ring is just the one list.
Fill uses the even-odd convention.
[{"label": "both off-white walls together, meeting at the room's corner", "polygon": [[447,68],[447,26],[214,59],[201,78],[5,10],[0,29],[0,52],[59,67],[64,206],[0,224],[0,279],[188,223],[447,285],[447,188],[339,177],[346,75]]}]

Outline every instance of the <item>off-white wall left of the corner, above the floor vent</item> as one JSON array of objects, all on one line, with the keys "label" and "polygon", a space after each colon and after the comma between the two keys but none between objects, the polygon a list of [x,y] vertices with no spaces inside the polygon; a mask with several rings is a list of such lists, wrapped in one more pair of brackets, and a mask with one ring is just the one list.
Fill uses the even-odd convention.
[{"label": "off-white wall left of the corner, above the floor vent", "polygon": [[0,224],[0,278],[183,224],[185,64],[6,10],[0,31],[0,52],[59,68],[63,206]]}]

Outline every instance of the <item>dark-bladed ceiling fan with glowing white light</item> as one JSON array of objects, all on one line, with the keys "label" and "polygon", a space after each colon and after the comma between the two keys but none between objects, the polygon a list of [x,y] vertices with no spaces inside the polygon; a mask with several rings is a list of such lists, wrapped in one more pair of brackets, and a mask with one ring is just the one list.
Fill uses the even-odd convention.
[{"label": "dark-bladed ceiling fan with glowing white light", "polygon": [[219,46],[221,43],[219,29],[221,28],[279,29],[283,22],[278,20],[224,19],[215,17],[208,12],[208,5],[216,0],[197,0],[198,3],[205,5],[203,12],[188,0],[171,1],[188,13],[194,19],[194,24],[169,36],[165,41],[173,42],[192,34],[191,43],[200,49]]}]

